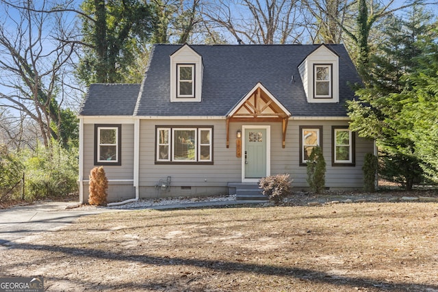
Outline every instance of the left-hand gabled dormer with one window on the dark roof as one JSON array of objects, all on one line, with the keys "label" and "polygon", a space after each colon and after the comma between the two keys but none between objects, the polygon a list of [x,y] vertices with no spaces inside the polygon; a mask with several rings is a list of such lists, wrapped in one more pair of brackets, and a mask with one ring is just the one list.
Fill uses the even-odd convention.
[{"label": "left-hand gabled dormer with one window on the dark roof", "polygon": [[201,101],[203,58],[188,44],[170,55],[170,101]]}]

